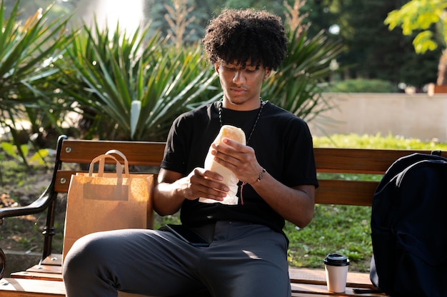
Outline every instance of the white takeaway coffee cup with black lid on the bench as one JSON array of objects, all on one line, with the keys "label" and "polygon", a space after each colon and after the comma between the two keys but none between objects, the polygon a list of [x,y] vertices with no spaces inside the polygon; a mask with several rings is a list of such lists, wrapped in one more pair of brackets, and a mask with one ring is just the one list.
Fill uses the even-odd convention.
[{"label": "white takeaway coffee cup with black lid on the bench", "polygon": [[348,257],[339,253],[329,253],[323,262],[326,270],[328,291],[343,293],[346,290],[346,277],[348,276]]}]

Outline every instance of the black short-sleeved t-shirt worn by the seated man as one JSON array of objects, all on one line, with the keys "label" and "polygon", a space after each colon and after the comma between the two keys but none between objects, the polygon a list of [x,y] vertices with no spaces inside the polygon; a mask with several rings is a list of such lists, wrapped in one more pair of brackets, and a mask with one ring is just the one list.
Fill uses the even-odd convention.
[{"label": "black short-sleeved t-shirt worn by the seated man", "polygon": [[[204,167],[209,146],[221,128],[218,106],[217,102],[203,106],[174,121],[162,168],[186,176],[194,168]],[[224,125],[243,129],[248,140],[258,111],[223,109],[221,117]],[[258,163],[286,186],[318,186],[311,134],[307,124],[297,116],[266,102],[248,146],[253,147]],[[181,221],[192,227],[215,221],[246,221],[281,232],[284,219],[250,185],[243,186],[243,205],[240,200],[238,205],[224,205],[185,199],[181,206]]]}]

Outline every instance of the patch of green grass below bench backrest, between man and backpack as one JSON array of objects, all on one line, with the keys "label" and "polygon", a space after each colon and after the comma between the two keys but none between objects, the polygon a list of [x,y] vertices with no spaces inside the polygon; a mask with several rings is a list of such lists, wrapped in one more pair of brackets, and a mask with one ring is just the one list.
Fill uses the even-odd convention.
[{"label": "patch of green grass below bench backrest, between man and backpack", "polygon": [[303,229],[286,223],[291,266],[322,268],[328,253],[343,253],[351,270],[366,271],[371,259],[371,208],[316,205],[313,221]]}]

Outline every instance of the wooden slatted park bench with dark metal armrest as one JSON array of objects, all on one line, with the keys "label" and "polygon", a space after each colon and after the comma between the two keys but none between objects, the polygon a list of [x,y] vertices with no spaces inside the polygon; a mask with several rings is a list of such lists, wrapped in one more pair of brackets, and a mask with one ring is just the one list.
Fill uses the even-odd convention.
[{"label": "wooden slatted park bench with dark metal armrest", "polygon": [[[31,205],[14,208],[0,208],[0,220],[11,216],[47,211],[44,228],[44,249],[41,261],[26,271],[12,273],[0,281],[0,296],[65,296],[61,278],[61,255],[51,252],[51,238],[56,232],[54,214],[56,196],[67,193],[71,174],[81,171],[70,170],[66,164],[88,164],[111,148],[122,151],[130,166],[156,166],[158,168],[164,153],[164,143],[130,141],[79,141],[59,137],[56,149],[54,176],[46,191]],[[416,151],[355,149],[355,148],[315,148],[318,173],[365,173],[383,174],[397,158]],[[430,151],[418,151],[430,153]],[[445,156],[445,155],[444,155]],[[73,166],[71,166],[72,168]],[[316,203],[371,206],[373,191],[377,182],[320,179],[316,191]],[[151,226],[149,226],[151,227]],[[323,269],[290,268],[292,296],[330,296],[327,291]],[[362,294],[355,288],[363,289]],[[373,286],[368,273],[348,273],[346,293],[343,296],[385,296],[368,292]],[[119,296],[134,296],[121,294]],[[198,295],[195,295],[198,296]]]}]

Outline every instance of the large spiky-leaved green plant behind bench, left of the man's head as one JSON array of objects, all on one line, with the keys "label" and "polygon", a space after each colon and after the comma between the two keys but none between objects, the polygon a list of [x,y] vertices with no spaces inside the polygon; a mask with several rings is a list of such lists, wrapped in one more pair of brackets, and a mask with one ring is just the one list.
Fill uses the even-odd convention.
[{"label": "large spiky-leaved green plant behind bench, left of the man's head", "polygon": [[67,49],[59,89],[91,115],[86,138],[164,140],[173,119],[212,89],[216,75],[199,46],[176,49],[159,34],[146,41],[147,29],[127,36],[84,25]]}]

